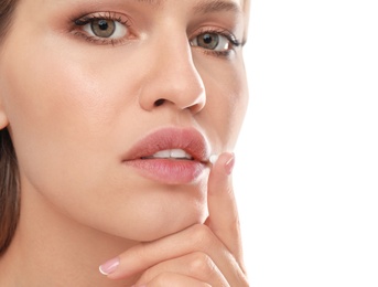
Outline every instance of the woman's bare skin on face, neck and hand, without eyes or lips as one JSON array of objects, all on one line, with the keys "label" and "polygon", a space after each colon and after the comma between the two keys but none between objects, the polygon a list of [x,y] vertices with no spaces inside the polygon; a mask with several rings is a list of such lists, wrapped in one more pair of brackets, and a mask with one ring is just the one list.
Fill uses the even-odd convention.
[{"label": "woman's bare skin on face, neck and hand, without eyes or lips", "polygon": [[[231,153],[190,184],[121,161],[161,127],[199,130],[213,153],[234,148],[247,106],[241,46],[219,56],[188,42],[202,29],[241,42],[247,18],[241,0],[225,1],[240,13],[194,12],[205,2],[20,1],[0,47],[0,128],[12,136],[22,199],[0,285],[248,285]],[[121,42],[88,41],[73,23],[108,11],[129,19]],[[114,257],[118,268],[101,275]]]}]

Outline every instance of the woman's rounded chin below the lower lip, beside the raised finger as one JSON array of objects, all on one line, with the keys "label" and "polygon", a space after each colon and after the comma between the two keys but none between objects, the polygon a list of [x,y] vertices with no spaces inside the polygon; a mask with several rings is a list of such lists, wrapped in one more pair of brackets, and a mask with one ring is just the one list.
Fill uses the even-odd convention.
[{"label": "woman's rounded chin below the lower lip, beside the raised finger", "polygon": [[90,216],[83,213],[87,223],[125,240],[151,242],[206,221],[207,178],[196,184],[174,187],[137,179],[127,191],[107,198],[101,212],[96,204]]}]

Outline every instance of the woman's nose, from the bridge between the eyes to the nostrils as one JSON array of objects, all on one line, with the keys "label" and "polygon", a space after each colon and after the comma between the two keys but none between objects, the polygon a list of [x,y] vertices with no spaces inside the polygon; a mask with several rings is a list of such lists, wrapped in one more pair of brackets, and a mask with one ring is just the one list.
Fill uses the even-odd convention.
[{"label": "woman's nose, from the bridge between the eyes to the nostrils", "polygon": [[140,106],[151,111],[170,105],[196,114],[205,106],[206,93],[194,65],[191,45],[186,35],[166,39],[171,41],[160,38],[150,45],[154,47],[149,53],[149,66],[141,84]]}]

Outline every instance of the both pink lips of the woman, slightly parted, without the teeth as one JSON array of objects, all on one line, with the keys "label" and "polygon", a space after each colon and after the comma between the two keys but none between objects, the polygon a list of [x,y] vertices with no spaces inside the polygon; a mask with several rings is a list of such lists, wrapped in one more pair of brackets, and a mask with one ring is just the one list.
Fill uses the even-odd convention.
[{"label": "both pink lips of the woman, slightly parted, without the teeth", "polygon": [[[150,158],[161,150],[182,149],[192,159]],[[139,174],[165,184],[194,182],[208,166],[209,145],[195,128],[163,128],[138,141],[122,162]]]}]

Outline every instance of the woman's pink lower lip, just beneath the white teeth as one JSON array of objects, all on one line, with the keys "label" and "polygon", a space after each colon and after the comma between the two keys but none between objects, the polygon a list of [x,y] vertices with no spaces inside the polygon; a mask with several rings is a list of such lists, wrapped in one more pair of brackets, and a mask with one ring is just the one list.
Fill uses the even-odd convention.
[{"label": "woman's pink lower lip, just beneath the white teeth", "polygon": [[187,184],[194,182],[206,169],[206,164],[195,160],[137,159],[125,161],[148,179],[165,184]]}]

